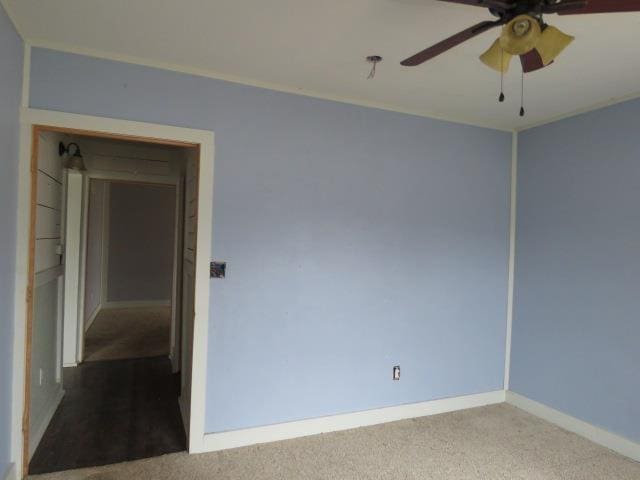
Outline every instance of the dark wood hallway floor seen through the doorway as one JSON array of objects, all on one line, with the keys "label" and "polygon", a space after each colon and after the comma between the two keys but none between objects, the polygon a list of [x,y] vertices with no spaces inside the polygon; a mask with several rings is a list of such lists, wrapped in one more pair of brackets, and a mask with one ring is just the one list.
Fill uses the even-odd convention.
[{"label": "dark wood hallway floor seen through the doorway", "polygon": [[65,368],[65,396],[30,473],[106,465],[186,449],[179,379],[166,357]]}]

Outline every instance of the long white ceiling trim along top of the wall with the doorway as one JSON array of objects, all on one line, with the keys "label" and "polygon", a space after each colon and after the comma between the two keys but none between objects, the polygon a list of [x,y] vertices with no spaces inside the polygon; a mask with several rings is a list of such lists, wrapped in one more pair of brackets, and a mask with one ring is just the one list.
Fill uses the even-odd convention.
[{"label": "long white ceiling trim along top of the wall with the doorway", "polygon": [[228,75],[228,74],[220,73],[218,71],[210,70],[210,69],[188,67],[186,65],[179,65],[179,64],[168,63],[168,62],[155,62],[155,61],[146,60],[144,58],[137,57],[137,56],[106,52],[106,51],[96,50],[91,48],[77,47],[77,46],[63,44],[63,43],[50,42],[50,41],[38,39],[38,38],[30,38],[28,39],[28,43],[35,48],[43,48],[43,49],[55,50],[55,51],[65,52],[65,53],[85,55],[88,57],[101,58],[104,60],[113,60],[116,62],[123,62],[123,63],[131,63],[134,65],[142,65],[145,67],[158,68],[161,70],[169,70],[169,71],[178,72],[178,73],[185,73],[188,75],[196,75],[199,77],[212,78],[215,80],[223,80],[226,82],[238,83],[241,85],[248,85],[248,86],[257,87],[257,88],[264,88],[266,90],[274,90],[277,92],[289,93],[293,95],[319,98],[322,100],[329,100],[332,102],[347,103],[350,105],[357,105],[360,107],[374,108],[377,110],[386,110],[390,112],[403,113],[406,115],[414,115],[417,117],[429,118],[431,120],[440,120],[443,122],[459,123],[462,125],[470,125],[473,127],[487,128],[487,129],[499,130],[503,132],[513,131],[512,128],[504,128],[502,126],[494,125],[490,121],[480,124],[478,122],[473,122],[470,120],[466,120],[464,118],[437,115],[427,110],[402,109],[386,103],[371,102],[371,101],[358,99],[358,98],[343,97],[340,95],[331,95],[331,94],[321,93],[321,92],[317,92],[310,89],[305,89],[302,87],[290,87],[290,86],[276,84],[276,83],[263,82],[263,81],[255,80],[251,78]]}]

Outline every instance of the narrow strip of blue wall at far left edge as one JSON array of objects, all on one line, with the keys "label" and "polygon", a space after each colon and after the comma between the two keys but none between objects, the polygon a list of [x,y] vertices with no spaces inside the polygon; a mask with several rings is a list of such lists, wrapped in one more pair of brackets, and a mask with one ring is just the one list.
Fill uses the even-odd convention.
[{"label": "narrow strip of blue wall at far left edge", "polygon": [[10,461],[22,39],[0,5],[0,477]]}]

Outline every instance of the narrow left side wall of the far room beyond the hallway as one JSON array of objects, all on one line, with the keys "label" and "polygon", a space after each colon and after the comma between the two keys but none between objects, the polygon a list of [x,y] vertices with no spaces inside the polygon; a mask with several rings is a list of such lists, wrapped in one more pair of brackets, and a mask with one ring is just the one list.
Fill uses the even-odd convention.
[{"label": "narrow left side wall of the far room beyond the hallway", "polygon": [[84,328],[87,330],[102,300],[102,255],[104,211],[108,182],[91,180],[89,183],[89,204],[87,209],[87,257],[84,291]]}]

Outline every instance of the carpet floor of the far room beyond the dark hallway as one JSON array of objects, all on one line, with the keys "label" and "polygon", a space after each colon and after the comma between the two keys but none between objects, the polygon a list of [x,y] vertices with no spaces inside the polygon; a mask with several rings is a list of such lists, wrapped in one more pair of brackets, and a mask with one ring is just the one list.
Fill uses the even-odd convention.
[{"label": "carpet floor of the far room beyond the dark hallway", "polygon": [[84,359],[122,360],[169,354],[171,308],[102,310],[85,335]]}]

